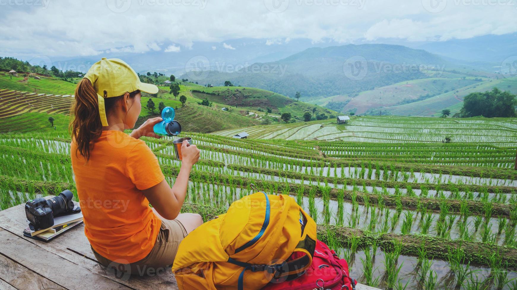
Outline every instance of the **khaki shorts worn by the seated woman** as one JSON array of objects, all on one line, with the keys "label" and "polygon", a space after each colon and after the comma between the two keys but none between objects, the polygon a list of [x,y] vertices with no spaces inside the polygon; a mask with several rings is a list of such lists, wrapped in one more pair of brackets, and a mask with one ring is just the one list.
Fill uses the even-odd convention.
[{"label": "khaki shorts worn by the seated woman", "polygon": [[160,232],[156,237],[156,243],[153,249],[144,259],[130,263],[121,264],[116,261],[108,260],[97,253],[93,248],[95,258],[104,266],[114,268],[120,274],[131,275],[156,275],[160,271],[165,270],[174,262],[179,243],[183,241],[187,231],[178,220],[162,219]]}]

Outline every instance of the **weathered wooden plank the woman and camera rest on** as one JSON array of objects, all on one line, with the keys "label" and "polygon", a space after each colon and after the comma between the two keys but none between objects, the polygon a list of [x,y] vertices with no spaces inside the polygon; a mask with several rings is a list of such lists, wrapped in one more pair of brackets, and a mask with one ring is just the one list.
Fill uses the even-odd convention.
[{"label": "weathered wooden plank the woman and camera rest on", "polygon": [[84,235],[84,225],[76,226],[54,240],[45,243],[23,236],[23,229],[27,227],[26,219],[24,204],[19,204],[18,206],[0,211],[0,228],[102,277],[124,284],[130,288],[153,289],[166,287],[173,290],[178,288],[171,268],[166,268],[153,276],[117,277],[113,271],[107,270],[105,266],[96,261],[88,239]]}]

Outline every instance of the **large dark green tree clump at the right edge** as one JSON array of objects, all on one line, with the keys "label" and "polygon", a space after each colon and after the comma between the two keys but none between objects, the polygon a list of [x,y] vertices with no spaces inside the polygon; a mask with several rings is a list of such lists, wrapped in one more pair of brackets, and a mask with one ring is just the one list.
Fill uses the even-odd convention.
[{"label": "large dark green tree clump at the right edge", "polygon": [[465,96],[460,113],[462,117],[515,117],[515,106],[515,95],[494,88],[492,91],[470,93]]}]

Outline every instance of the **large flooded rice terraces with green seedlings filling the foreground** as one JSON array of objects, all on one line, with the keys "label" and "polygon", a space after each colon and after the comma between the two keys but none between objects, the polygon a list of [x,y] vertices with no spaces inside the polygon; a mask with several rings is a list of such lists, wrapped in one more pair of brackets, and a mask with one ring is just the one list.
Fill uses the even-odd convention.
[{"label": "large flooded rice terraces with green seedlings filling the foreground", "polygon": [[[383,289],[517,288],[517,147],[507,139],[514,138],[507,134],[514,121],[435,118],[423,126],[417,120],[424,119],[360,117],[339,127],[323,121],[182,134],[202,150],[184,211],[209,219],[253,193],[254,184],[293,196],[316,220],[318,238],[347,259],[360,283]],[[381,121],[384,127],[372,125]],[[354,135],[304,140],[351,133],[350,126],[379,128],[371,138],[376,142],[343,142]],[[467,126],[457,127],[455,138],[473,130],[487,142],[394,143],[386,138],[395,133],[382,132],[411,129],[431,140],[427,134],[434,131],[425,130],[452,126]],[[227,137],[240,131],[264,139]],[[64,132],[0,134],[1,209],[74,191],[69,142]],[[180,161],[172,139],[145,142],[174,183]]]}]

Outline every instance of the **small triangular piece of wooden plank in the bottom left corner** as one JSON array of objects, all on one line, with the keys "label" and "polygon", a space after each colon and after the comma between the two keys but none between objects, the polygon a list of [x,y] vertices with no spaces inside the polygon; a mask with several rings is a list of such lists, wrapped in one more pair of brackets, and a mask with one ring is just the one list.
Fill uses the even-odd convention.
[{"label": "small triangular piece of wooden plank in the bottom left corner", "polygon": [[12,289],[66,289],[3,255],[0,255],[0,279],[5,283],[0,283],[0,289],[8,288],[6,285]]}]

